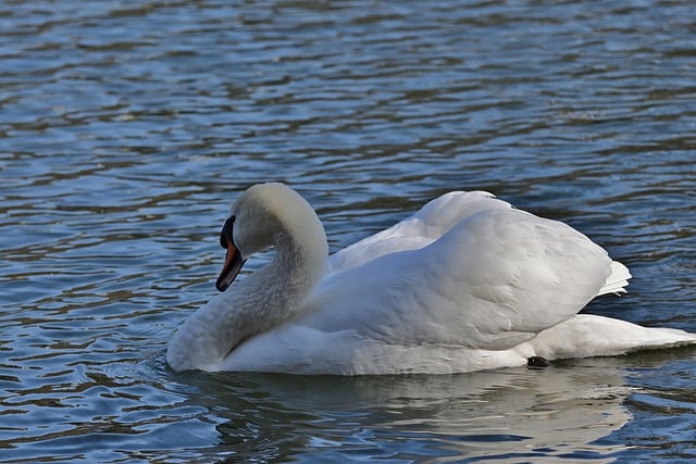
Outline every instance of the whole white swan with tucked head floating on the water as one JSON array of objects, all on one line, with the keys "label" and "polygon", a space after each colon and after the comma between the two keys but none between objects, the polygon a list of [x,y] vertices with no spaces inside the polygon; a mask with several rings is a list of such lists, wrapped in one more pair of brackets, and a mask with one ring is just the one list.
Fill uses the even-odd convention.
[{"label": "whole white swan with tucked head floating on the water", "polygon": [[[446,193],[328,256],[309,203],[261,184],[233,205],[221,244],[223,293],[173,338],[175,371],[444,374],[696,342],[577,314],[625,291],[629,269],[570,226],[486,192]],[[274,260],[231,286],[270,247]]]}]

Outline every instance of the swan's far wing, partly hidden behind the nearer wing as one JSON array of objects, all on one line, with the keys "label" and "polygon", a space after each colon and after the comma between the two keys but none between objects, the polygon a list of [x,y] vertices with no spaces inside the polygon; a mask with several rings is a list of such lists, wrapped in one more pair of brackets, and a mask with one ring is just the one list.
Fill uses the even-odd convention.
[{"label": "swan's far wing, partly hidden behind the nearer wing", "polygon": [[451,191],[426,203],[412,216],[388,229],[366,237],[328,259],[330,274],[357,267],[397,251],[417,250],[431,244],[464,218],[510,204],[485,191]]}]

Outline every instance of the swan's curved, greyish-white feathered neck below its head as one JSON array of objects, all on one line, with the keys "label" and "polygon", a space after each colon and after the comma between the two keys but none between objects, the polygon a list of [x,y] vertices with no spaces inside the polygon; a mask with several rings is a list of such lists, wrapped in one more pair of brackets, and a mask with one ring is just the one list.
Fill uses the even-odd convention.
[{"label": "swan's curved, greyish-white feathered neck below its head", "polygon": [[[316,227],[318,226],[318,227]],[[176,371],[215,371],[234,349],[302,312],[303,301],[325,272],[328,246],[316,220],[311,230],[282,228],[276,255],[265,267],[234,283],[198,310],[175,336],[167,362]]]}]

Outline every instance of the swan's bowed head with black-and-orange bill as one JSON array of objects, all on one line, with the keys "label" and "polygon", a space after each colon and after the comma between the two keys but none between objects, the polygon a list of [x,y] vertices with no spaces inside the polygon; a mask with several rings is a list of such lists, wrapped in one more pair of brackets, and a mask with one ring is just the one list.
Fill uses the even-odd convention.
[{"label": "swan's bowed head with black-and-orange bill", "polygon": [[249,256],[293,240],[321,243],[327,254],[324,228],[307,200],[279,183],[249,187],[233,204],[220,234],[227,256],[215,287],[225,291]]}]

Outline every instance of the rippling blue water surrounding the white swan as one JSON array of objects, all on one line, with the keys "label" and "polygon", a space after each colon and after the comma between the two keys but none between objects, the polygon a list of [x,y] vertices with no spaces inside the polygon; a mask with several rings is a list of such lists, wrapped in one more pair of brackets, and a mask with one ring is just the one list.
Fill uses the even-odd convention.
[{"label": "rippling blue water surrounding the white swan", "polygon": [[588,311],[696,330],[695,32],[686,1],[0,3],[0,461],[693,460],[692,349],[347,379],[163,353],[261,180],[334,251],[493,191],[631,267]]}]

